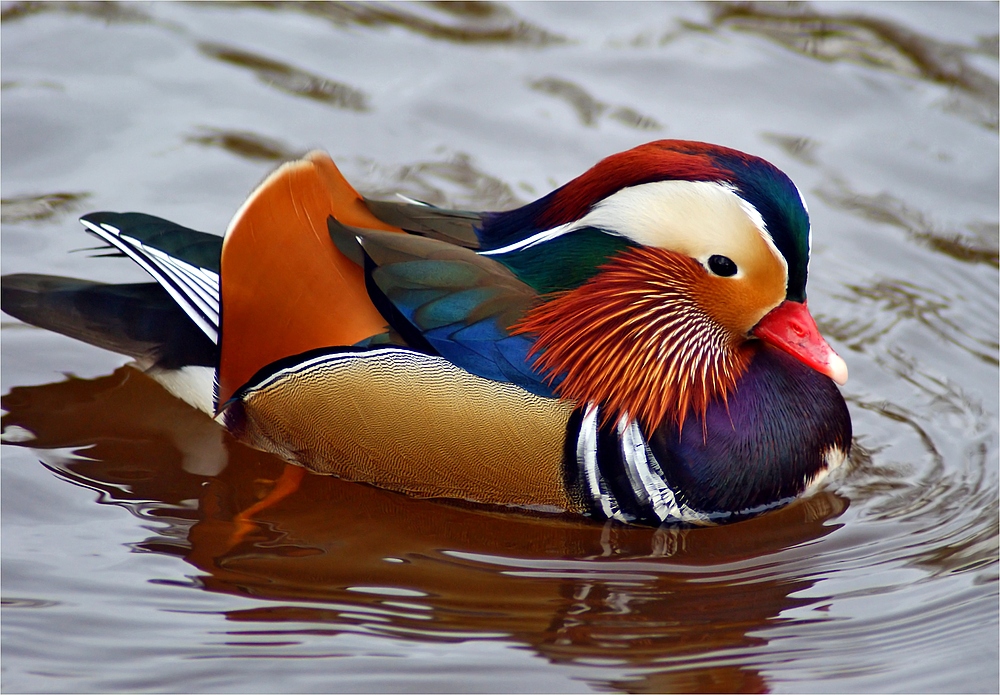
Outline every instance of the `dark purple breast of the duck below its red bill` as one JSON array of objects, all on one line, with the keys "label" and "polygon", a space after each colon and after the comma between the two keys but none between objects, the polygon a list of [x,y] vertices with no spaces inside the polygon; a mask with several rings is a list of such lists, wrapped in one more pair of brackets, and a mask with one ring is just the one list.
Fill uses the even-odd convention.
[{"label": "dark purple breast of the duck below its red bill", "polygon": [[[801,495],[851,449],[851,416],[831,379],[760,340],[703,430],[646,430],[666,483],[694,509],[752,515]],[[707,432],[707,436],[704,434]]]}]

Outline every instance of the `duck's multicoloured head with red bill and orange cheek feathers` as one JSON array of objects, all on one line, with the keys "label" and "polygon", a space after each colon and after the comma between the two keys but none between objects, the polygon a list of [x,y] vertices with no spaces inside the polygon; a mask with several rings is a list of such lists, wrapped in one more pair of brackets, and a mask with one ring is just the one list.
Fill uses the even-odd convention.
[{"label": "duck's multicoloured head with red bill and orange cheek feathers", "polygon": [[806,307],[809,213],[770,163],[661,140],[488,216],[483,250],[541,291],[537,336],[557,392],[652,428],[725,399],[764,340],[839,384],[844,361]]}]

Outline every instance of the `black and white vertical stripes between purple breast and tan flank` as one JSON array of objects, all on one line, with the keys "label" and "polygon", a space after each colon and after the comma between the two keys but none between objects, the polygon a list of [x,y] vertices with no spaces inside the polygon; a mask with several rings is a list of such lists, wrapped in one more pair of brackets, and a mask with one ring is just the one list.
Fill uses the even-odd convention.
[{"label": "black and white vertical stripes between purple breast and tan flank", "polygon": [[[624,523],[681,522],[711,525],[703,512],[687,506],[670,487],[642,430],[625,418],[617,425],[600,424],[600,407],[587,406],[573,418],[575,457],[567,456],[567,471],[596,517]],[[573,425],[579,422],[578,428]],[[571,454],[571,447],[567,447]]]}]

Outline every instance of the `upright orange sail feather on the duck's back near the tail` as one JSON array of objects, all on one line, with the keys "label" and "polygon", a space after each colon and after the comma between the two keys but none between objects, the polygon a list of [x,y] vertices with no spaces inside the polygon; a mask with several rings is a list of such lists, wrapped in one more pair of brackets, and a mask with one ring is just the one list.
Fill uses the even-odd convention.
[{"label": "upright orange sail feather on the duck's back near the tail", "polygon": [[222,246],[219,404],[276,360],[385,330],[362,269],[330,241],[331,215],[401,231],[372,215],[323,152],[279,168],[233,217]]}]

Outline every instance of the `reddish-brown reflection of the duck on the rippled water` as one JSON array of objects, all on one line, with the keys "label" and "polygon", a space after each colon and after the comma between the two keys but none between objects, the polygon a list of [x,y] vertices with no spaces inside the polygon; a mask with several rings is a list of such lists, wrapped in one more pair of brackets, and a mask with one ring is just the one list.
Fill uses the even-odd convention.
[{"label": "reddish-brown reflection of the duck on the rippled water", "polygon": [[234,632],[500,638],[553,663],[614,666],[627,680],[592,685],[629,692],[767,690],[755,635],[821,601],[795,597],[815,582],[808,546],[847,506],[821,490],[737,524],[654,529],[306,476],[257,511],[288,464],[129,367],[14,388],[2,405],[7,433],[34,435],[21,446],[86,450],[45,455],[57,475],[166,524],[137,547],[183,558],[198,588],[269,602],[227,613]]}]

